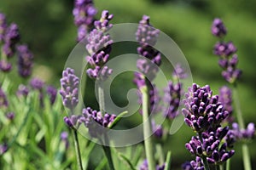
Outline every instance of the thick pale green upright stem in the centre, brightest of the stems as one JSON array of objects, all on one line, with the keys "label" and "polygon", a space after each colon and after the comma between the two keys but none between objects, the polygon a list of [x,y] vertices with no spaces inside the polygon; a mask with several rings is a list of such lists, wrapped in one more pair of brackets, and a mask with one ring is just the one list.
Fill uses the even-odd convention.
[{"label": "thick pale green upright stem in the centre, brightest of the stems", "polygon": [[[153,142],[150,138],[152,134],[151,121],[148,116],[148,88],[144,86],[140,89],[143,94],[143,134],[144,134],[144,144],[146,150],[146,157],[148,160],[148,170],[155,169],[154,163],[154,153],[153,153]],[[148,138],[148,139],[146,139]]]}]

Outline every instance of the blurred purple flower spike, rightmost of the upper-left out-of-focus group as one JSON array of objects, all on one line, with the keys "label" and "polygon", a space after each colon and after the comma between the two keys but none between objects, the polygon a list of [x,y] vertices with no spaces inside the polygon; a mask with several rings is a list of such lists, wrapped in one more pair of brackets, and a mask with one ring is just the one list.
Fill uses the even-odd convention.
[{"label": "blurred purple flower spike, rightmost of the upper-left out-of-focus group", "polygon": [[29,77],[32,73],[33,55],[26,45],[19,45],[18,52],[18,70],[20,77]]}]

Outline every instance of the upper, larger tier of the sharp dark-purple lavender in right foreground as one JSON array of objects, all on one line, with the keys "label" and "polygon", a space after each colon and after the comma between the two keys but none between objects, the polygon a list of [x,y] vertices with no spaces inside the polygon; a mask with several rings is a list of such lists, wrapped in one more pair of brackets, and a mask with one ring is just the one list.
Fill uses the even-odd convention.
[{"label": "upper, larger tier of the sharp dark-purple lavender in right foreground", "polygon": [[206,131],[209,127],[218,127],[219,123],[229,116],[229,112],[224,111],[224,105],[218,102],[218,95],[212,96],[208,85],[200,88],[194,83],[185,97],[185,122],[198,133]]}]

